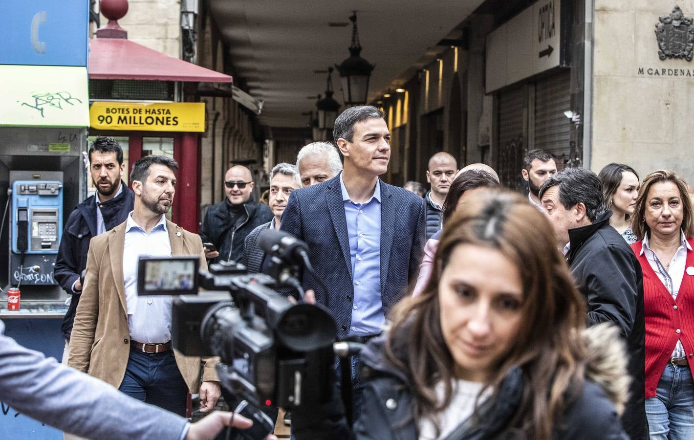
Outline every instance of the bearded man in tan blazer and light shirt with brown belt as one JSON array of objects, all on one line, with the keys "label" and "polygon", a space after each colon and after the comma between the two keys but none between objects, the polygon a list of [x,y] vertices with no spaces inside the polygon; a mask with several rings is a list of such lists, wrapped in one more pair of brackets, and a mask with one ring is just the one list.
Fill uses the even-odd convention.
[{"label": "bearded man in tan blazer and light shirt with brown belt", "polygon": [[217,403],[215,358],[185,357],[171,348],[170,296],[137,296],[139,256],[200,255],[207,268],[200,237],[164,217],[174,201],[176,171],[178,164],[165,156],[135,162],[135,210],[90,244],[68,364],[184,415],[188,392],[199,392],[203,412]]}]

